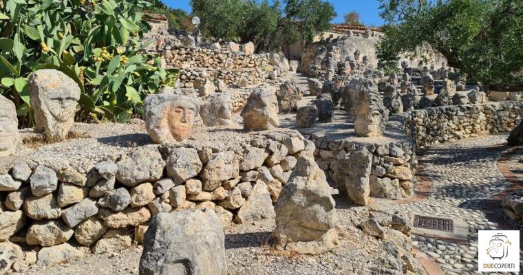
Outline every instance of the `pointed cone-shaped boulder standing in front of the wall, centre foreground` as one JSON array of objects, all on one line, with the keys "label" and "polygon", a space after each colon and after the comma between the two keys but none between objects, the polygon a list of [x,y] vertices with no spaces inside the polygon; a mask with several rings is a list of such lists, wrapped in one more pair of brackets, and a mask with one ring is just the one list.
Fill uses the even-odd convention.
[{"label": "pointed cone-shaped boulder standing in front of the wall, centre foreground", "polygon": [[323,170],[300,157],[275,204],[277,243],[306,254],[331,250],[337,244],[334,206]]}]

